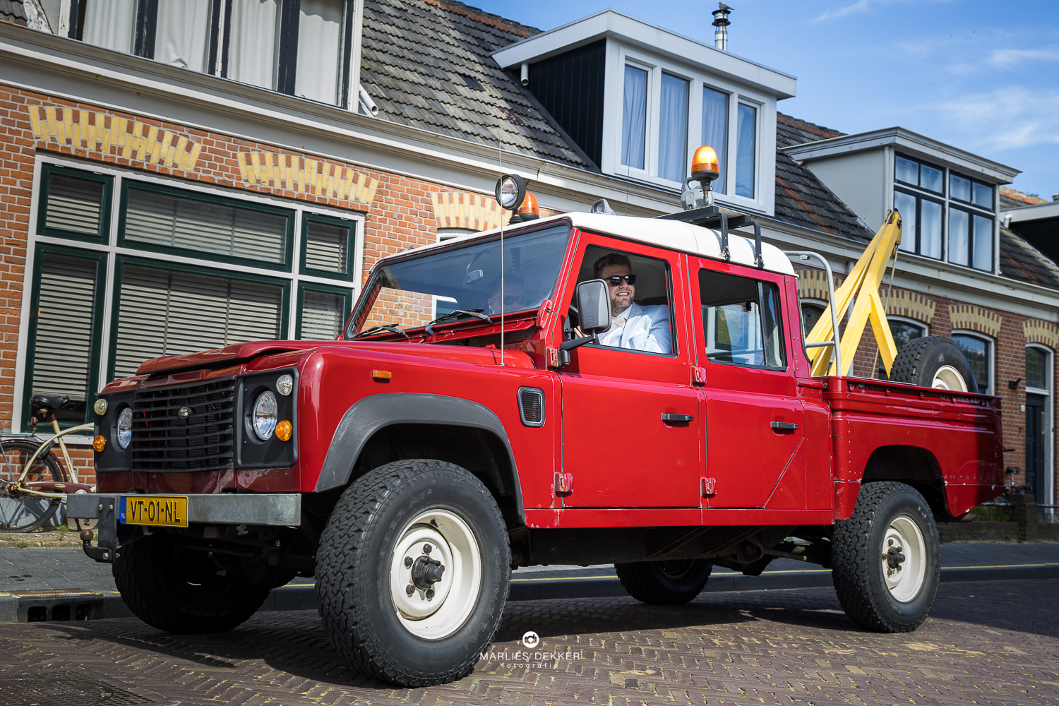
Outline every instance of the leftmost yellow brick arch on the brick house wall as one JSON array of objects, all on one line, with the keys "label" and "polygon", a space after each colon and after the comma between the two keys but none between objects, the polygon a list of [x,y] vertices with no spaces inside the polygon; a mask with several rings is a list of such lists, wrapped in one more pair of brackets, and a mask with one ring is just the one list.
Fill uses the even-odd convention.
[{"label": "leftmost yellow brick arch on the brick house wall", "polygon": [[126,160],[194,171],[202,145],[157,125],[102,111],[28,106],[33,137]]}]

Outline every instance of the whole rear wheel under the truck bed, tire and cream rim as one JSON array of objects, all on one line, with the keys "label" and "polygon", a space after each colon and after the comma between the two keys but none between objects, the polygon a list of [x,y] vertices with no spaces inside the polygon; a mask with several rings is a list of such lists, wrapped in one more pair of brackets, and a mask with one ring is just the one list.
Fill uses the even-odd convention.
[{"label": "whole rear wheel under the truck bed, tire and cream rim", "polygon": [[831,576],[839,602],[862,628],[911,632],[934,604],[941,574],[937,525],[903,483],[861,486],[852,517],[834,526]]}]

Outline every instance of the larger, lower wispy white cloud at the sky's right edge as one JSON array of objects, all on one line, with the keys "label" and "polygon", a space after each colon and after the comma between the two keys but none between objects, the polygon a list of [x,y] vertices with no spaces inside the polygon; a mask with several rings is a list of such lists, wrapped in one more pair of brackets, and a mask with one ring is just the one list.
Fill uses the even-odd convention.
[{"label": "larger, lower wispy white cloud at the sky's right edge", "polygon": [[964,96],[934,109],[979,149],[1059,144],[1059,91],[1012,87]]}]

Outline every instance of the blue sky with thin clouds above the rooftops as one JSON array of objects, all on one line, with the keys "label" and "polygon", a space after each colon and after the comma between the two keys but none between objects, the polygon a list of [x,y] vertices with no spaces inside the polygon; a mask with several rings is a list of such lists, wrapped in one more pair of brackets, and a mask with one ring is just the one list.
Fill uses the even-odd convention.
[{"label": "blue sky with thin clouds above the rooftops", "polygon": [[[713,43],[702,0],[464,0],[550,30],[608,6]],[[797,76],[779,110],[861,132],[900,125],[1059,194],[1059,0],[728,0],[729,51]]]}]

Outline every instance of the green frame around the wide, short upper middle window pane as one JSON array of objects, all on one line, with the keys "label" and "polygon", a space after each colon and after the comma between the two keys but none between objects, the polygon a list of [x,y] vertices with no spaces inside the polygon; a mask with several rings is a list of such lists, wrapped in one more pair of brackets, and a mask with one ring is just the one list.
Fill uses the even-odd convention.
[{"label": "green frame around the wide, short upper middle window pane", "polygon": [[[207,250],[196,250],[192,248],[161,246],[158,243],[143,242],[141,240],[132,240],[132,239],[126,242],[125,234],[127,229],[127,217],[128,217],[128,200],[129,200],[128,193],[130,188],[155,192],[157,194],[165,194],[166,196],[173,196],[175,198],[186,199],[191,201],[201,201],[203,203],[214,203],[233,209],[244,209],[249,211],[257,211],[261,213],[285,216],[287,218],[287,224],[286,224],[286,232],[284,234],[283,260],[279,263],[270,263],[264,259],[239,257],[237,255],[226,255],[222,253],[210,252]],[[193,189],[172,188],[168,186],[162,186],[160,184],[152,184],[150,182],[143,182],[143,181],[137,181],[134,179],[123,178],[121,185],[121,205],[119,207],[119,218],[118,218],[118,246],[122,248],[128,248],[130,250],[145,250],[149,252],[169,253],[175,255],[183,255],[186,257],[194,257],[196,259],[207,259],[216,263],[226,263],[229,265],[243,265],[247,267],[253,267],[265,270],[279,270],[283,272],[290,272],[291,261],[292,261],[291,251],[293,250],[294,247],[294,214],[295,211],[293,209],[282,209],[280,206],[273,206],[264,203],[255,203],[253,201],[245,201],[243,199],[229,199],[220,196],[214,196],[212,194],[203,194],[201,192],[196,192]]]}]

